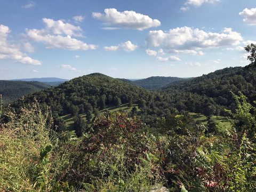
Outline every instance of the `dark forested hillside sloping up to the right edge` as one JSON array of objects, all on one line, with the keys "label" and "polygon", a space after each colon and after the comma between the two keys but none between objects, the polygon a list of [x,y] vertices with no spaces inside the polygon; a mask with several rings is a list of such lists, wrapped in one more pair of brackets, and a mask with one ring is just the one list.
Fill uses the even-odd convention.
[{"label": "dark forested hillside sloping up to the right edge", "polygon": [[213,98],[214,102],[229,106],[233,102],[230,91],[241,91],[250,101],[256,99],[256,71],[246,67],[229,67],[213,73],[175,82],[163,89],[165,92],[183,91]]}]

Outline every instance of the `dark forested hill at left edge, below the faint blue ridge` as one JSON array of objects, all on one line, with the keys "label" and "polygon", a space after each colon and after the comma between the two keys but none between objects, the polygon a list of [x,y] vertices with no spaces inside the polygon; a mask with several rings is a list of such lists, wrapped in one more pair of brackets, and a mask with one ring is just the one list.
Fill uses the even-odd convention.
[{"label": "dark forested hill at left edge, below the faint blue ridge", "polygon": [[50,87],[41,82],[25,81],[0,81],[0,94],[2,94],[3,104],[13,102],[22,96]]}]

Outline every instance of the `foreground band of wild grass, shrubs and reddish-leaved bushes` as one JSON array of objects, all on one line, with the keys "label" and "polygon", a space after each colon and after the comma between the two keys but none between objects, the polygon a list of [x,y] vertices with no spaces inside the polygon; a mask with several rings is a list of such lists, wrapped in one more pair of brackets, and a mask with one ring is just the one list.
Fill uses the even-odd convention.
[{"label": "foreground band of wild grass, shrubs and reddish-leaved bushes", "polygon": [[53,131],[37,102],[19,114],[1,110],[0,190],[253,191],[256,108],[242,93],[234,98],[230,130],[186,114],[149,128],[116,113],[95,118],[79,138]]}]

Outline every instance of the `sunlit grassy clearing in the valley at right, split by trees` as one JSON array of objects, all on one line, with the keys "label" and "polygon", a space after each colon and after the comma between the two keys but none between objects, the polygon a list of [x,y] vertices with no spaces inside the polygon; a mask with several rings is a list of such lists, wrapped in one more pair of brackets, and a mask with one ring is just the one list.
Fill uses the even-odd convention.
[{"label": "sunlit grassy clearing in the valley at right, split by trees", "polygon": [[[198,115],[198,114],[195,114],[195,113],[189,113],[189,115],[193,116],[193,118],[196,120],[196,121],[199,121],[201,122],[202,124],[206,124],[207,123],[207,117],[204,116],[204,115]],[[227,117],[223,117],[223,116],[212,116],[212,119],[214,121],[216,121],[223,129],[231,129],[231,124],[230,122],[228,121],[228,118]]]}]

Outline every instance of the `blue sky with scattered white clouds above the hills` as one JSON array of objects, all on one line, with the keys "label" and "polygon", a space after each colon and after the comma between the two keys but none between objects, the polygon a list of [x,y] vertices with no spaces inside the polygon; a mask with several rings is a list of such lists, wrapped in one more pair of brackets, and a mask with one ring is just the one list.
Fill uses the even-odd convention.
[{"label": "blue sky with scattered white clouds above the hills", "polygon": [[0,0],[0,79],[196,77],[246,66],[255,0]]}]

